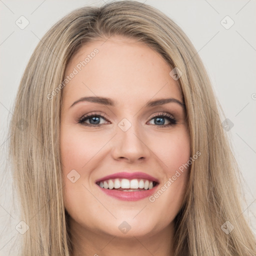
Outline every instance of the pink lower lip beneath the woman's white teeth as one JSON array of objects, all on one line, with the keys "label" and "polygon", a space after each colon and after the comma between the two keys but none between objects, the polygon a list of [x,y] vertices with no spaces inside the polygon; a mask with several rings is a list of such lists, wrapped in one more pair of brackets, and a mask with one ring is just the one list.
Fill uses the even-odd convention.
[{"label": "pink lower lip beneath the woman's white teeth", "polygon": [[[158,185],[158,184],[157,184]],[[106,189],[98,186],[104,193],[106,193],[109,196],[112,196],[119,200],[125,200],[125,201],[137,201],[140,199],[143,199],[145,197],[150,196],[153,194],[157,188],[157,185],[155,185],[151,189],[142,190],[142,191],[120,191],[117,189]]]}]

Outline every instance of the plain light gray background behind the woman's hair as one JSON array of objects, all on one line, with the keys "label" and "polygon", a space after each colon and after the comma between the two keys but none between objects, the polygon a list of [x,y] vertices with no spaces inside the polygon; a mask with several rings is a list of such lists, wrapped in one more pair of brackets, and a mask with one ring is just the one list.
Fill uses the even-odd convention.
[{"label": "plain light gray background behind the woman's hair", "polygon": [[[12,181],[9,169],[5,168],[7,123],[21,75],[36,44],[57,20],[77,7],[103,3],[103,0],[0,0],[0,255],[8,255],[9,251],[10,255],[16,255],[17,239],[21,236],[15,229],[21,219],[12,205]],[[146,0],[145,3],[163,11],[188,35],[203,60],[226,118],[234,124],[227,133],[244,177],[244,214],[256,233],[256,1]],[[21,15],[29,21],[24,29],[15,24]],[[226,15],[234,21],[229,29],[221,24]],[[228,25],[230,20],[225,18],[222,23]]]}]

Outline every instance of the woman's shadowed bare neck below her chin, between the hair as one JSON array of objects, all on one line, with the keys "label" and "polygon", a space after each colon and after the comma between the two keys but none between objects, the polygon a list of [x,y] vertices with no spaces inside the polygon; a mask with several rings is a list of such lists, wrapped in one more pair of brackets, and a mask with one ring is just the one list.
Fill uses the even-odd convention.
[{"label": "woman's shadowed bare neck below her chin, between the hair", "polygon": [[174,221],[158,233],[150,236],[111,236],[82,228],[73,219],[69,219],[71,256],[112,256],[143,255],[173,256]]}]

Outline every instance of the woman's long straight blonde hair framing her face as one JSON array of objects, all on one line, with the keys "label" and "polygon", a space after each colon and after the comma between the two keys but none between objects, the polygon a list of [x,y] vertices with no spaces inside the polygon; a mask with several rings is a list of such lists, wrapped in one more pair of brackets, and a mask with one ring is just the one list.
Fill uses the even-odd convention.
[{"label": "woman's long straight blonde hair framing her face", "polygon": [[[69,59],[82,45],[111,35],[146,43],[170,67],[182,71],[177,81],[187,112],[191,155],[197,151],[201,155],[191,164],[184,202],[175,218],[174,255],[255,255],[255,238],[240,206],[237,164],[202,61],[178,25],[137,1],[70,12],[47,31],[29,59],[9,129],[14,185],[21,218],[29,226],[22,236],[20,255],[71,253],[59,148],[62,90],[56,92],[56,87],[63,81]],[[52,91],[54,96],[49,97]],[[223,224],[229,233],[223,231]]]}]

